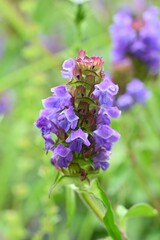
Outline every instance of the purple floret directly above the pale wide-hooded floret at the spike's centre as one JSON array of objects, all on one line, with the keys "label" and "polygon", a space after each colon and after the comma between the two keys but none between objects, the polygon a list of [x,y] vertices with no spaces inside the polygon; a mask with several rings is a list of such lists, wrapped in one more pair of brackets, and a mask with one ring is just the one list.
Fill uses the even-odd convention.
[{"label": "purple floret directly above the pale wide-hooded floret at the spike's centre", "polygon": [[65,132],[68,130],[75,129],[77,127],[79,117],[74,113],[73,107],[62,111],[58,117],[58,125],[64,129]]}]

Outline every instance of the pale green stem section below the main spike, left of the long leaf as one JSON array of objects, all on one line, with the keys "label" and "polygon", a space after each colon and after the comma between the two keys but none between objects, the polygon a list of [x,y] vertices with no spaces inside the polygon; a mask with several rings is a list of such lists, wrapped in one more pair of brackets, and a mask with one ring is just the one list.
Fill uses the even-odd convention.
[{"label": "pale green stem section below the main spike, left of the long leaf", "polygon": [[[103,223],[104,213],[102,209],[94,201],[90,193],[79,192],[79,196],[85,205],[98,217],[98,219]],[[104,223],[103,223],[104,224]]]}]

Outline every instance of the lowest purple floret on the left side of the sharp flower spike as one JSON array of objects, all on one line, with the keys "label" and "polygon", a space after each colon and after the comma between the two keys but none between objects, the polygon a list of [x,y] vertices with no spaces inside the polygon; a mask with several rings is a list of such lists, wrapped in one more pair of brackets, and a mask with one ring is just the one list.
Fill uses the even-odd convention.
[{"label": "lowest purple floret on the left side of the sharp flower spike", "polygon": [[72,161],[71,150],[64,147],[61,143],[53,150],[51,163],[56,167],[67,168],[68,163]]}]

